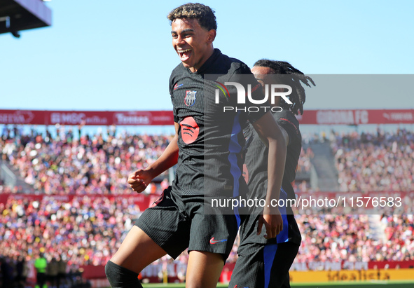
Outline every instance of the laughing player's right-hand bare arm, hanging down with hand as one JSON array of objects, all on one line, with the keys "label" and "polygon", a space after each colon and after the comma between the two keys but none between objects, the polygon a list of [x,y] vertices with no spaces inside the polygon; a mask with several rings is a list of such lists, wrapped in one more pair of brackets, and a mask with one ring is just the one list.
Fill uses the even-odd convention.
[{"label": "laughing player's right-hand bare arm, hanging down with hand", "polygon": [[265,225],[265,238],[275,238],[283,229],[283,221],[278,207],[270,205],[272,199],[279,200],[280,188],[286,161],[286,141],[279,125],[270,113],[263,115],[254,124],[259,137],[268,146],[268,191],[265,198],[263,217],[259,219],[258,233]]}]

